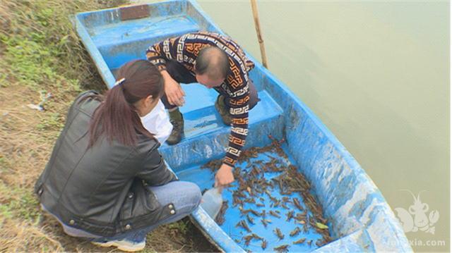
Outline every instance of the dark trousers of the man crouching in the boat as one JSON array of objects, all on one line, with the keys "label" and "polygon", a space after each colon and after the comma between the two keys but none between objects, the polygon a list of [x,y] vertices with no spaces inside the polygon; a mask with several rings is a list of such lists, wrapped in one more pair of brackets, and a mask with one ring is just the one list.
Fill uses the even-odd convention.
[{"label": "dark trousers of the man crouching in the boat", "polygon": [[[186,69],[181,63],[178,63],[177,61],[167,61],[167,72],[169,73],[169,75],[171,75],[171,77],[176,80],[176,82],[179,83],[185,83],[185,84],[190,84],[193,82],[198,82],[196,81],[196,78],[194,75],[191,75],[190,71],[188,69]],[[228,95],[227,94],[222,94],[221,95],[225,96],[226,100],[228,99]],[[256,106],[256,104],[258,103],[258,101],[261,101],[261,99],[259,99],[258,97],[258,93],[256,90],[256,87],[254,87],[254,83],[249,82],[249,110],[253,109],[254,106]],[[167,95],[164,94],[162,96],[162,103],[165,105],[165,109],[173,109],[177,106],[174,106],[172,104],[169,104],[168,99],[167,99]]]}]

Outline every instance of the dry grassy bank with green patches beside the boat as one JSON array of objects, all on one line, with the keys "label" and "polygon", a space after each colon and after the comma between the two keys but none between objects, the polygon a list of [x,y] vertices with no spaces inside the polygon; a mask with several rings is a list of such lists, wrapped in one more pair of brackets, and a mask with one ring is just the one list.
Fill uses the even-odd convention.
[{"label": "dry grassy bank with green patches beside the boat", "polygon": [[[40,211],[32,188],[73,99],[83,90],[105,89],[68,17],[119,4],[124,3],[4,0],[0,5],[0,252],[102,250],[65,235]],[[30,107],[40,103],[44,111]],[[149,252],[210,249],[186,219],[150,233],[146,247]]]}]

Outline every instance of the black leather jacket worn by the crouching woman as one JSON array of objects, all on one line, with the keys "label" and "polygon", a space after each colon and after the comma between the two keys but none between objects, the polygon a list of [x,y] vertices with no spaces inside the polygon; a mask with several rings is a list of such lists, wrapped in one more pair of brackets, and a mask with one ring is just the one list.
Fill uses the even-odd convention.
[{"label": "black leather jacket worn by the crouching woman", "polygon": [[82,93],[69,109],[50,161],[35,185],[41,204],[66,225],[105,237],[174,215],[172,204],[161,206],[145,187],[176,180],[157,151],[157,140],[138,135],[136,147],[126,147],[100,138],[87,149],[90,119],[100,104],[86,99],[93,94]]}]

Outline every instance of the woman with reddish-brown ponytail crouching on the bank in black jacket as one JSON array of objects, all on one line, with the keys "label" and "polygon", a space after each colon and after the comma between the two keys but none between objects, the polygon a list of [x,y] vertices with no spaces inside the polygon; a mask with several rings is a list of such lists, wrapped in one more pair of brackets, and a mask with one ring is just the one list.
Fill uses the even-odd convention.
[{"label": "woman with reddish-brown ponytail crouching on the bank in black jacket", "polygon": [[64,231],[124,251],[145,247],[145,236],[177,221],[201,201],[197,185],[177,181],[140,117],[163,94],[152,63],[131,61],[105,97],[79,95],[69,109],[49,163],[35,185],[42,209]]}]

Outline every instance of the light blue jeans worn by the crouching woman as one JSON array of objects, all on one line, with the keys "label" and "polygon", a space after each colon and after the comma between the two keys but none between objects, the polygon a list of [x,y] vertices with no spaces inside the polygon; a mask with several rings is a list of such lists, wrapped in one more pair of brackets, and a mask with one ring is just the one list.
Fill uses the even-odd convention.
[{"label": "light blue jeans worn by the crouching woman", "polygon": [[[72,228],[66,226],[64,223],[61,223],[61,220],[56,217],[61,225],[64,228],[64,231],[76,237],[87,237],[91,238],[95,242],[105,242],[110,240],[130,240],[132,242],[143,242],[145,240],[146,235],[157,228],[157,226],[172,223],[174,221],[179,221],[191,214],[196,207],[201,203],[201,190],[199,190],[198,185],[186,181],[173,181],[171,183],[167,183],[166,185],[161,186],[150,186],[148,187],[152,190],[157,197],[157,201],[162,205],[166,206],[169,203],[174,205],[174,209],[176,209],[176,214],[174,216],[169,216],[162,221],[159,221],[147,228],[143,228],[140,230],[133,230],[127,233],[123,233],[121,235],[116,235],[114,237],[99,237],[97,235],[93,235],[84,230],[79,230],[78,228]],[[44,206],[42,206],[44,210]]]}]

